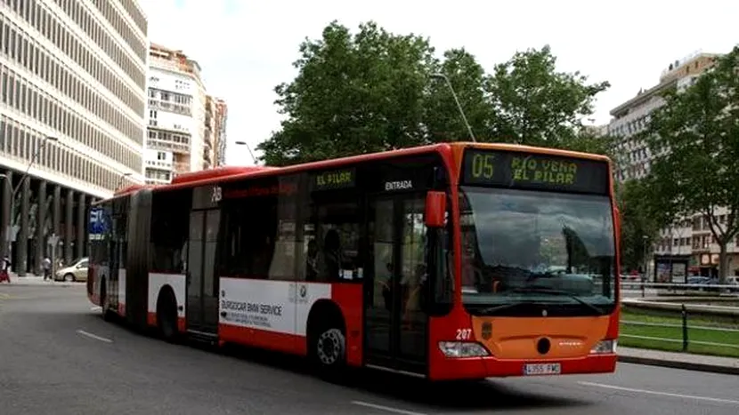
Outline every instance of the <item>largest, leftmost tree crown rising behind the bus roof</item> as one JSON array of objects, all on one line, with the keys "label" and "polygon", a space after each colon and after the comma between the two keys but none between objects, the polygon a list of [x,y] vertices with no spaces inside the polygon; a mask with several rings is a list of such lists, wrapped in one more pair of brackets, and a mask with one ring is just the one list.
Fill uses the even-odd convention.
[{"label": "largest, leftmost tree crown rising behind the bus roof", "polygon": [[433,52],[421,37],[393,36],[374,23],[355,36],[331,23],[321,40],[300,45],[296,79],[275,88],[288,119],[259,145],[264,160],[295,164],[423,142]]}]

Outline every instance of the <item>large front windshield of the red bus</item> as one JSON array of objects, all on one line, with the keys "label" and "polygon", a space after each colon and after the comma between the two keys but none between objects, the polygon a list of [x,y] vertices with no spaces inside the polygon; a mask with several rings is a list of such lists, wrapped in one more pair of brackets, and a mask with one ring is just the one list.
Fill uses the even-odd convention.
[{"label": "large front windshield of the red bus", "polygon": [[[615,235],[608,196],[460,188],[462,299],[473,315],[605,315]],[[534,306],[534,307],[530,307]]]}]

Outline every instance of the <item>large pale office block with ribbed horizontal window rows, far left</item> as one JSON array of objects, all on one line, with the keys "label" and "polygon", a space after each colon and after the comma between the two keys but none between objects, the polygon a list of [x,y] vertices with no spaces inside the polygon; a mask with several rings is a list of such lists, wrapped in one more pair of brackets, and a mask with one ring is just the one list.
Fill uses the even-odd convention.
[{"label": "large pale office block with ribbed horizontal window rows, far left", "polygon": [[146,45],[135,0],[0,2],[0,246],[19,275],[84,257],[87,206],[143,181]]}]

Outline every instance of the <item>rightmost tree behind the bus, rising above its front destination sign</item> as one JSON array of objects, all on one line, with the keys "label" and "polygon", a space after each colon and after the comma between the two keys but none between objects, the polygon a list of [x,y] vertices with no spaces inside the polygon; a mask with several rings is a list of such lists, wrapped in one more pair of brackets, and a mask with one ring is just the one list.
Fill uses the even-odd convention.
[{"label": "rightmost tree behind the bus, rising above its front destination sign", "polygon": [[[550,148],[582,147],[582,121],[594,113],[608,82],[589,83],[580,72],[557,71],[548,45],[516,52],[495,66],[486,81],[493,110],[491,137]],[[590,141],[592,144],[592,141]]]}]

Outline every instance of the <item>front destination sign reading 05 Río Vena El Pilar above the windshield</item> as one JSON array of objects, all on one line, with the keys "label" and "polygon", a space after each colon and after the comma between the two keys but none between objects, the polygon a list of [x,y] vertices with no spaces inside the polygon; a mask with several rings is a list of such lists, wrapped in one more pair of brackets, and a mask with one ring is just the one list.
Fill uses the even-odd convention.
[{"label": "front destination sign reading 05 R\u00edo Vena El Pilar above the windshield", "polygon": [[608,164],[582,158],[471,148],[462,162],[464,185],[607,195]]}]

